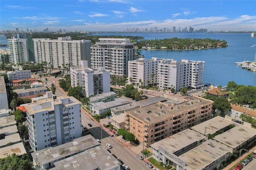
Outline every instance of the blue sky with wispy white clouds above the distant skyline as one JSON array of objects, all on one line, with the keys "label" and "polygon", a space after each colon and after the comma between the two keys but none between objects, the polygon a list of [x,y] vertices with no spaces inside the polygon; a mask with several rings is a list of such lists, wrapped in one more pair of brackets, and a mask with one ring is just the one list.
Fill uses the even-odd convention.
[{"label": "blue sky with wispy white clouds above the distant skyline", "polygon": [[0,31],[256,31],[255,0],[0,0]]}]

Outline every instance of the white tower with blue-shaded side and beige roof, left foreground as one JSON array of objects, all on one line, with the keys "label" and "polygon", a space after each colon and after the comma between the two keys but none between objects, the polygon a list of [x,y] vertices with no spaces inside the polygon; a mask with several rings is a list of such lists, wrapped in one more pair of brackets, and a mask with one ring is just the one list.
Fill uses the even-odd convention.
[{"label": "white tower with blue-shaded side and beige roof, left foreground", "polygon": [[81,102],[72,96],[52,96],[25,105],[30,146],[34,152],[82,136]]}]

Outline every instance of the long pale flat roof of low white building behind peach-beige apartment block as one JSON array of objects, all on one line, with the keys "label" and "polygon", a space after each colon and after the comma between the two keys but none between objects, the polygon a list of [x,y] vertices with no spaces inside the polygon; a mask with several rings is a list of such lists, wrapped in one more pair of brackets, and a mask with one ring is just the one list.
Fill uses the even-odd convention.
[{"label": "long pale flat roof of low white building behind peach-beige apartment block", "polygon": [[123,97],[119,97],[119,98],[116,98],[114,101],[109,101],[106,103],[104,103],[103,101],[99,101],[96,103],[92,103],[92,105],[95,105],[96,109],[102,110],[102,109],[116,107],[118,105],[127,104],[127,103],[131,103],[131,101]]}]

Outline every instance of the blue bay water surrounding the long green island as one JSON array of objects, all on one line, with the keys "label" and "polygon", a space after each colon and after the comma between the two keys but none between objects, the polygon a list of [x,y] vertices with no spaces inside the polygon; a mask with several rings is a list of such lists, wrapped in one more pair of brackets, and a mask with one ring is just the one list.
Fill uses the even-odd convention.
[{"label": "blue bay water surrounding the long green island", "polygon": [[95,34],[143,36],[147,40],[164,38],[210,38],[226,40],[228,47],[187,51],[139,50],[145,59],[152,57],[206,61],[203,80],[213,85],[226,86],[229,81],[239,85],[256,86],[256,71],[242,69],[235,62],[254,61],[256,54],[256,38],[250,33],[123,33]]}]

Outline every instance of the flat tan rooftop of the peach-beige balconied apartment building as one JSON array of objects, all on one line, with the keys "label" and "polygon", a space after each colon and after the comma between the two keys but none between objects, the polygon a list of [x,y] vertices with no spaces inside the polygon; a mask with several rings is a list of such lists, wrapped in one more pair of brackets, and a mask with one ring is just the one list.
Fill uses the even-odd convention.
[{"label": "flat tan rooftop of the peach-beige balconied apartment building", "polygon": [[[198,97],[193,97],[194,100],[192,100],[193,104],[191,105],[186,105],[186,103],[190,103],[190,99],[185,99],[185,101],[183,103],[180,103],[179,105],[176,106],[168,106],[165,105],[162,102],[157,102],[151,105],[147,105],[146,107],[141,107],[141,108],[136,108],[136,109],[131,109],[128,111],[125,111],[126,113],[128,113],[129,115],[132,115],[138,119],[140,119],[141,121],[144,121],[144,123],[147,124],[152,124],[155,122],[159,122],[161,120],[164,120],[166,117],[169,116],[174,116],[174,115],[178,115],[184,111],[189,111],[194,109],[195,107],[201,106],[201,105],[207,105],[208,103],[212,103],[213,101],[208,101],[206,99],[202,99],[200,98],[200,100],[202,102],[199,101]],[[162,108],[160,108],[162,107]],[[171,109],[172,107],[172,109]],[[180,109],[178,109],[178,107]],[[151,113],[147,113],[148,111],[151,111]],[[157,113],[160,113],[160,115],[157,115]],[[165,113],[165,114],[164,114]],[[147,120],[146,117],[148,117],[150,119]]]}]

